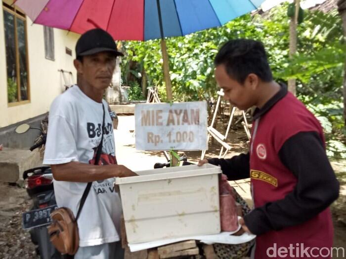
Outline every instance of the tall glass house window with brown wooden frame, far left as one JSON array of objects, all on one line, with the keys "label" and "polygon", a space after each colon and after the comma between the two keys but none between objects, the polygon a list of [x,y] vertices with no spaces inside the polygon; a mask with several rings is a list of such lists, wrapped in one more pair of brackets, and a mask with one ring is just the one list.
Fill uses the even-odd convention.
[{"label": "tall glass house window with brown wooden frame, far left", "polygon": [[13,105],[30,99],[25,14],[3,3],[7,101]]}]

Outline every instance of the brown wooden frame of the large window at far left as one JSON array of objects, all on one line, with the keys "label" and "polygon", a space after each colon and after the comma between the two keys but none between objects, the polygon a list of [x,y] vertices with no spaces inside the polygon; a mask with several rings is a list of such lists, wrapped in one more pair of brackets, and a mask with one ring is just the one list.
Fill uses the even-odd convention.
[{"label": "brown wooden frame of the large window at far left", "polygon": [[[16,48],[16,76],[17,76],[17,102],[12,102],[9,103],[7,99],[7,107],[13,107],[13,106],[18,106],[18,105],[23,105],[23,104],[29,104],[31,103],[31,94],[30,94],[30,69],[29,69],[29,52],[28,52],[28,32],[27,32],[27,19],[26,15],[17,9],[16,6],[11,7],[8,4],[2,2],[2,11],[5,10],[6,12],[12,14],[14,16],[14,41],[15,41],[15,48]],[[2,18],[3,19],[3,18]],[[26,69],[27,69],[27,81],[28,81],[28,89],[27,89],[27,94],[28,94],[28,100],[20,101],[21,99],[21,92],[20,92],[20,62],[19,62],[19,48],[18,48],[18,34],[17,34],[17,19],[20,19],[24,22],[24,27],[25,27],[25,51],[26,51]],[[5,28],[5,23],[3,23],[3,27]],[[3,38],[4,43],[6,45],[6,39],[5,37]],[[6,50],[5,50],[6,51]],[[5,58],[5,64],[7,63],[7,60]],[[6,65],[7,66],[7,65]],[[6,73],[6,90],[8,89],[7,85],[7,73]]]}]

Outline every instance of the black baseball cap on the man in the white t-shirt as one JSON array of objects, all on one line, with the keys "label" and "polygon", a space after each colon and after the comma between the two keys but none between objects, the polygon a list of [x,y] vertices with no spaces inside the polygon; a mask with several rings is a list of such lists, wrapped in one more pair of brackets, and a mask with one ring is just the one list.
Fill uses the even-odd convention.
[{"label": "black baseball cap on the man in the white t-shirt", "polygon": [[103,51],[112,52],[115,56],[124,56],[117,49],[113,37],[102,29],[85,32],[76,43],[76,56],[87,56]]}]

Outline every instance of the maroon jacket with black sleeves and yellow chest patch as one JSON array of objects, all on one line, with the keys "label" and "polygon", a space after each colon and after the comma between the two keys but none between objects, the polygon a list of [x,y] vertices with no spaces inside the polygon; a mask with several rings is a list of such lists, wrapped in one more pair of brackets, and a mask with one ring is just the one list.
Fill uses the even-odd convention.
[{"label": "maroon jacket with black sleeves and yellow chest patch", "polygon": [[209,162],[229,180],[251,177],[255,208],[244,220],[258,235],[255,258],[267,258],[274,243],[332,247],[328,206],[339,195],[339,183],[318,120],[285,85],[255,111],[250,144],[247,154]]}]

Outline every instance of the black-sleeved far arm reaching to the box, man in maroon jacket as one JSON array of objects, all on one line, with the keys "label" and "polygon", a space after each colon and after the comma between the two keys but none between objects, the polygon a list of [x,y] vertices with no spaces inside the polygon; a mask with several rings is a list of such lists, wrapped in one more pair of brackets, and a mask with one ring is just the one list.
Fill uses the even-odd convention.
[{"label": "black-sleeved far arm reaching to the box, man in maroon jacket", "polygon": [[[208,163],[221,166],[222,173],[229,181],[250,177],[250,153],[235,155],[232,158],[209,158]],[[207,161],[205,161],[207,162]],[[201,165],[201,164],[200,164]]]}]

